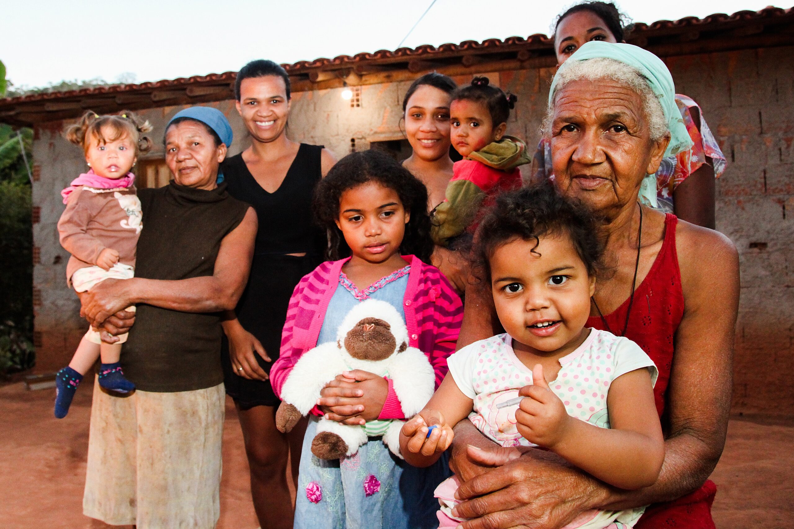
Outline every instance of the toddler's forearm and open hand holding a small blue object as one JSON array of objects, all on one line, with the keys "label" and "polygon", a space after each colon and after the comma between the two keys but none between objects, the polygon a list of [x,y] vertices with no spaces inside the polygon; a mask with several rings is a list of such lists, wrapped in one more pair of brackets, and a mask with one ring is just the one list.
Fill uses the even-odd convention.
[{"label": "toddler's forearm and open hand holding a small blue object", "polygon": [[[400,431],[399,449],[405,460],[419,467],[437,462],[452,444],[453,427],[472,412],[473,402],[457,387],[451,375],[444,378],[425,409]],[[427,437],[429,427],[434,425],[437,427]]]}]

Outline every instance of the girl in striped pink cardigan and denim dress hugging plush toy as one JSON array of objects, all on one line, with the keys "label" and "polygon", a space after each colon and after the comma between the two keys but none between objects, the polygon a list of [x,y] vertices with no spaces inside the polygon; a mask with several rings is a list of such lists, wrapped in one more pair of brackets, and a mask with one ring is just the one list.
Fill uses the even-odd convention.
[{"label": "girl in striped pink cardigan and denim dress hugging plush toy", "polygon": [[[345,156],[318,184],[314,212],[329,233],[332,260],[295,287],[270,373],[279,396],[299,358],[319,344],[336,343],[345,316],[368,299],[387,302],[403,317],[407,345],[426,355],[438,387],[463,305],[441,272],[426,264],[433,251],[426,208],[422,182],[379,151]],[[405,419],[393,382],[346,371],[322,389],[317,404],[304,439],[295,527],[434,527],[433,490],[449,476],[444,461],[414,468],[375,437],[351,456],[313,454],[318,416],[362,426]]]}]

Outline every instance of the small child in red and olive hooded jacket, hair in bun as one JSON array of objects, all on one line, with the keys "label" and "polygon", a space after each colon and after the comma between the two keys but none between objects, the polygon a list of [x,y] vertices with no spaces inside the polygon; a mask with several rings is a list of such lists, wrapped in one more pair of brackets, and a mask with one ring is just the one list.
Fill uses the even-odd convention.
[{"label": "small child in red and olive hooded jacket, hair in bun", "polygon": [[438,246],[454,249],[468,228],[476,228],[480,205],[490,205],[501,191],[521,186],[518,167],[530,163],[526,144],[505,136],[507,118],[517,98],[490,86],[487,77],[453,92],[449,105],[453,148],[464,157],[453,166],[446,199],[431,213],[431,236]]}]

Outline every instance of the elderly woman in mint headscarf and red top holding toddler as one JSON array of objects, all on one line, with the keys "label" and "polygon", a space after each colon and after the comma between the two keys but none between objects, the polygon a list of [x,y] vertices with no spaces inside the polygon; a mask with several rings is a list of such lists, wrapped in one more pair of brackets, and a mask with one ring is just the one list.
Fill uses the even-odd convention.
[{"label": "elderly woman in mint headscarf and red top holding toddler", "polygon": [[[464,481],[463,527],[563,527],[590,508],[652,504],[635,527],[714,527],[707,481],[722,454],[730,410],[738,255],[727,237],[638,201],[646,174],[689,147],[665,64],[630,44],[589,42],[557,71],[544,123],[554,184],[602,220],[612,273],[596,286],[588,327],[638,343],[659,370],[665,429],[655,485],[623,491],[537,449],[495,447],[468,421],[451,465]],[[498,331],[482,289],[467,296],[458,347]],[[523,390],[522,390],[523,392]]]}]

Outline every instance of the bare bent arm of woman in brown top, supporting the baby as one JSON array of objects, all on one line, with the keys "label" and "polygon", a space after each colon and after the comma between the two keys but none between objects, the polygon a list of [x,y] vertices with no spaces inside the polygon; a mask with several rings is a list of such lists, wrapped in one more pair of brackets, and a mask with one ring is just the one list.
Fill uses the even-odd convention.
[{"label": "bare bent arm of woman in brown top, supporting the baby", "polygon": [[256,213],[249,208],[223,238],[213,275],[177,281],[106,279],[87,293],[83,312],[94,327],[101,327],[108,316],[137,303],[181,312],[234,309],[248,281],[256,226]]}]

